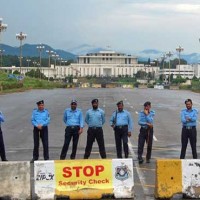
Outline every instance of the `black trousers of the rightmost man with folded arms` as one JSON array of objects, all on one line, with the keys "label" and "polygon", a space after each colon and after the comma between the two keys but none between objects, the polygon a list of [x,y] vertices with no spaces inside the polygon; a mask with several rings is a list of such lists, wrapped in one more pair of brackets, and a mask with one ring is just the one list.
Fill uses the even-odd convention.
[{"label": "black trousers of the rightmost man with folded arms", "polygon": [[182,133],[181,133],[182,148],[181,148],[180,159],[185,158],[188,140],[190,140],[190,145],[192,148],[192,156],[194,159],[197,159],[197,148],[196,148],[197,130],[196,130],[196,127],[193,127],[192,129],[186,129],[185,127],[182,128]]}]

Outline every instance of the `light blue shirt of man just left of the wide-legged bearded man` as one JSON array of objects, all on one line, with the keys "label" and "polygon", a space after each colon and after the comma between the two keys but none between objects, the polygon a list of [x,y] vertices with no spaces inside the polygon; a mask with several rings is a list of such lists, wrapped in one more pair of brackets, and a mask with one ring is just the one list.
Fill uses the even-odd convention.
[{"label": "light blue shirt of man just left of the wide-legged bearded man", "polygon": [[80,126],[81,128],[84,126],[83,114],[80,109],[67,108],[64,112],[63,121],[66,126]]}]

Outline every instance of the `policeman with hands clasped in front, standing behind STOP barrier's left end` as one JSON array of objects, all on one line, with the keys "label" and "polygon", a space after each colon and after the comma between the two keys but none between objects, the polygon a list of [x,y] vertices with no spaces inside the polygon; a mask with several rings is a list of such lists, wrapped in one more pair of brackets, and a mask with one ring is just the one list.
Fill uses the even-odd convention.
[{"label": "policeman with hands clasped in front, standing behind STOP barrier's left end", "polygon": [[49,111],[44,108],[44,101],[38,101],[38,108],[33,109],[32,112],[32,125],[33,128],[33,159],[31,162],[38,160],[39,158],[39,139],[41,138],[43,144],[43,156],[44,160],[49,160],[49,144],[48,144],[48,124],[50,123]]}]

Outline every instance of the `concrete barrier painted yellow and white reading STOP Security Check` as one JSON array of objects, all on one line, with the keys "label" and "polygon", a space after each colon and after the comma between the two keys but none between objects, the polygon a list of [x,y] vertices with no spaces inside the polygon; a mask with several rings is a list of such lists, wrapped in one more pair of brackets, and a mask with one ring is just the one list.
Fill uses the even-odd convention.
[{"label": "concrete barrier painted yellow and white reading STOP Security Check", "polygon": [[34,198],[133,198],[132,159],[34,162]]}]

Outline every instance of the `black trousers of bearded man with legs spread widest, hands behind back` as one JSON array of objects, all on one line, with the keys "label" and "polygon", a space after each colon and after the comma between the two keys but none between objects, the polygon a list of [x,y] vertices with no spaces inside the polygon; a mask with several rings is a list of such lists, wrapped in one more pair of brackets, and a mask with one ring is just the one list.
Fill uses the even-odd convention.
[{"label": "black trousers of bearded man with legs spread widest, hands behind back", "polygon": [[95,141],[95,139],[99,146],[99,153],[101,155],[101,158],[106,158],[103,129],[101,127],[97,128],[89,127],[87,130],[87,144],[85,148],[84,159],[88,159],[90,157],[93,142]]}]

